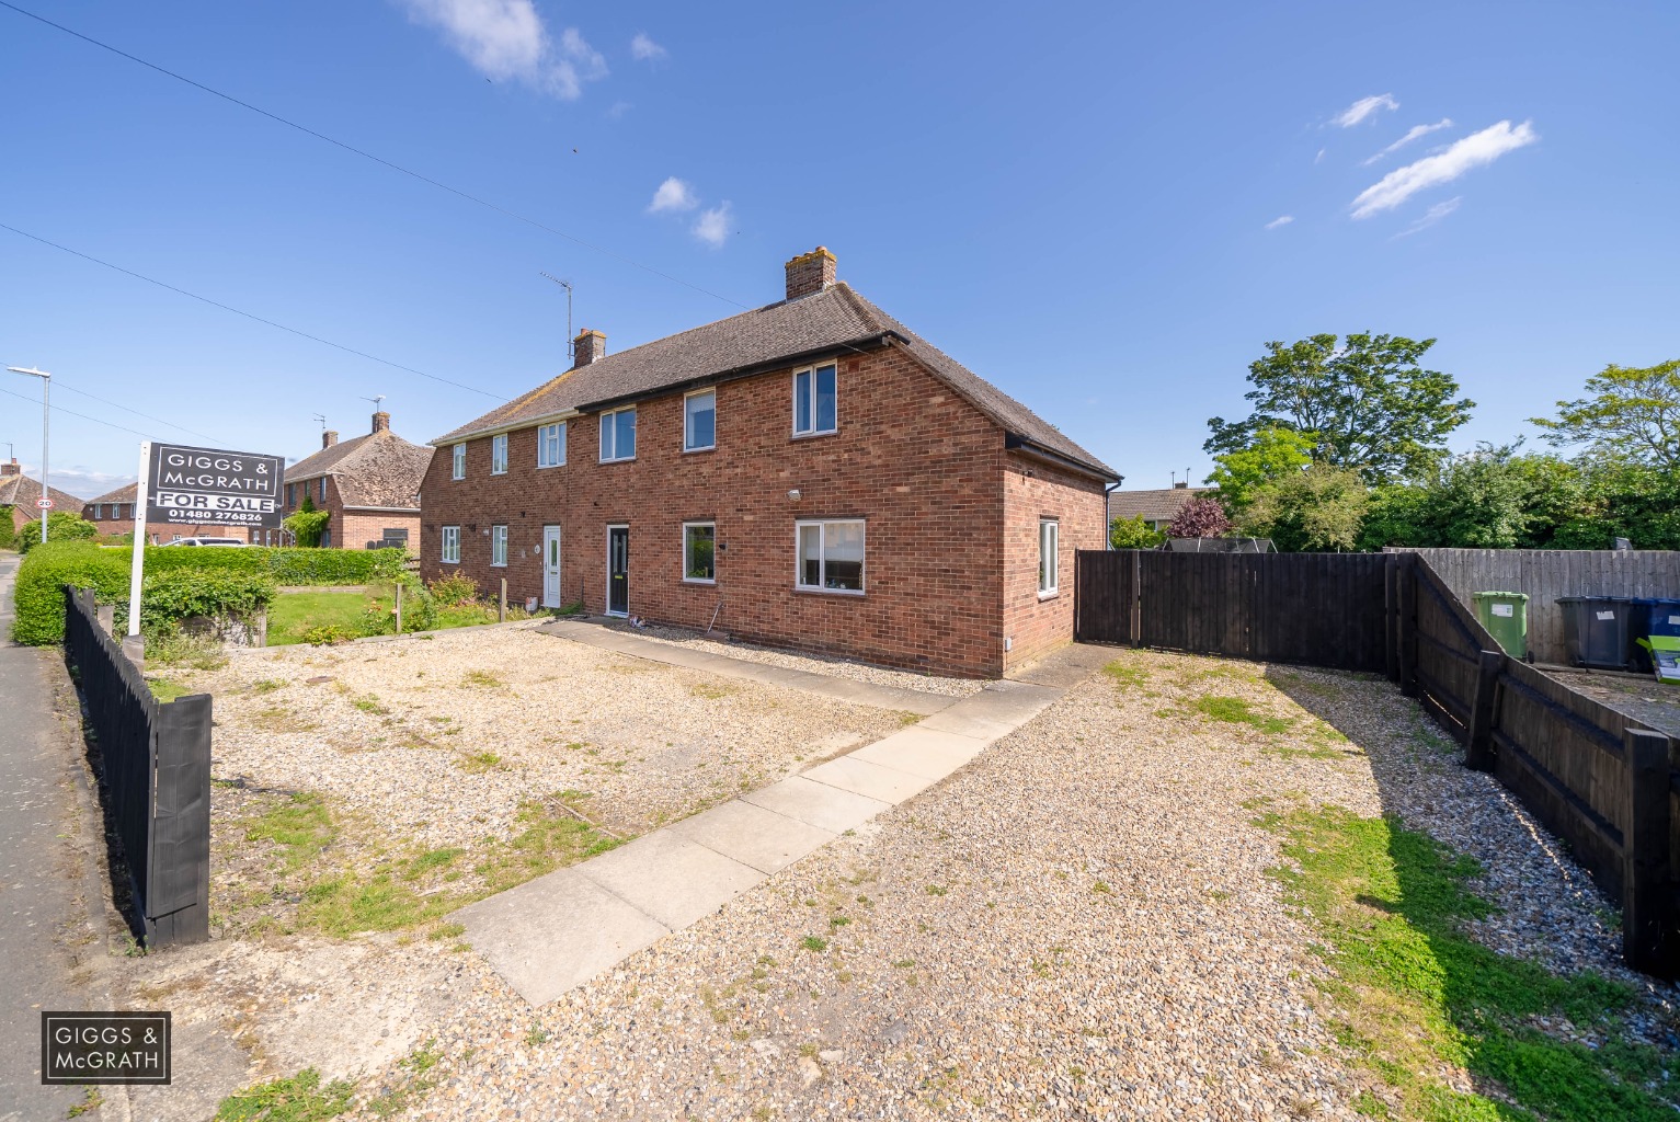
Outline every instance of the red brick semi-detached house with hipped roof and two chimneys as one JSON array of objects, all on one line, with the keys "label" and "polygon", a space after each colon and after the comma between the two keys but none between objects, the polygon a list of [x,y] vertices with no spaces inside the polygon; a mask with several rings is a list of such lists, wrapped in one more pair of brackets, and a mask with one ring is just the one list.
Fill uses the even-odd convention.
[{"label": "red brick semi-detached house with hipped roof and two chimneys", "polygon": [[605,354],[433,440],[422,573],[995,677],[1072,638],[1112,469],[835,280]]}]

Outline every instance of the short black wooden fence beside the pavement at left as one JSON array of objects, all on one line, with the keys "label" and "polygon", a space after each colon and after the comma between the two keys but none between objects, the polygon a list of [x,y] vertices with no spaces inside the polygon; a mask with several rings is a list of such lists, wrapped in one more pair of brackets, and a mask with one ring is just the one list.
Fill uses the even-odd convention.
[{"label": "short black wooden fence beside the pavement at left", "polygon": [[92,591],[64,596],[64,652],[146,946],[202,942],[210,937],[210,695],[160,704],[99,625]]}]

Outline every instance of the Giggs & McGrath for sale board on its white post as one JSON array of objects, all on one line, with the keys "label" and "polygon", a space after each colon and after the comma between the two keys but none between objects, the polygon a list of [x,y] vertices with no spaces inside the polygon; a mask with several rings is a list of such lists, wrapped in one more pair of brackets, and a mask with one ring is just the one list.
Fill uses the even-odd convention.
[{"label": "Giggs & McGrath for sale board on its white post", "polygon": [[128,574],[128,638],[136,665],[144,657],[139,598],[144,586],[146,524],[279,529],[286,460],[277,455],[192,448],[144,440],[134,490],[134,561]]}]

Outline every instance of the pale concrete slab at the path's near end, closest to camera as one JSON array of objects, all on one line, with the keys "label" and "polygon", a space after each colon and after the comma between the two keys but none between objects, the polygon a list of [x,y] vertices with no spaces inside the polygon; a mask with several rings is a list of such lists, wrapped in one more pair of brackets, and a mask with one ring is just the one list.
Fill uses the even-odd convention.
[{"label": "pale concrete slab at the path's near end, closest to camera", "polygon": [[669,929],[576,868],[469,904],[467,942],[531,1004],[548,1004]]}]

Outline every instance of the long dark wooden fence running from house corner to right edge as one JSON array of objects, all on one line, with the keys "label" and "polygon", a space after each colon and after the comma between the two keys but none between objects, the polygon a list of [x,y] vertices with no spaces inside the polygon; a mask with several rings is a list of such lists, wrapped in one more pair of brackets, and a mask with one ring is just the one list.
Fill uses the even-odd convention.
[{"label": "long dark wooden fence running from house corner to right edge", "polygon": [[1075,635],[1383,672],[1621,902],[1630,966],[1680,974],[1680,751],[1505,657],[1416,554],[1080,551]]}]

